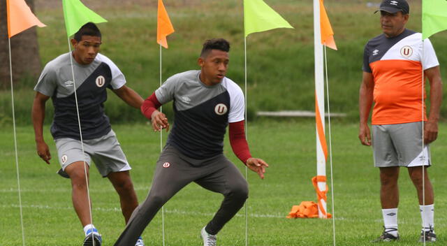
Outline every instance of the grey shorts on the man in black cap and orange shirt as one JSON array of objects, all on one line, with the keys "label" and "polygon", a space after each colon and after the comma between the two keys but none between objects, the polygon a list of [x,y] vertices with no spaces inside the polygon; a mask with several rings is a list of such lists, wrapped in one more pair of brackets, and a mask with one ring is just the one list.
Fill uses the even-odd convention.
[{"label": "grey shorts on the man in black cap and orange shirt", "polygon": [[422,122],[372,126],[374,166],[430,166],[430,148],[422,151]]}]

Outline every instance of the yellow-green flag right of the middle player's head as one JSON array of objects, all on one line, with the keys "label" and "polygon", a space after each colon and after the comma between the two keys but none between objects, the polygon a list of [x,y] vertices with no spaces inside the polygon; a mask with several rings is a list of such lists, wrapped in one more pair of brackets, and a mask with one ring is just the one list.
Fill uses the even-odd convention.
[{"label": "yellow-green flag right of the middle player's head", "polygon": [[245,36],[275,28],[293,28],[263,0],[244,0]]}]

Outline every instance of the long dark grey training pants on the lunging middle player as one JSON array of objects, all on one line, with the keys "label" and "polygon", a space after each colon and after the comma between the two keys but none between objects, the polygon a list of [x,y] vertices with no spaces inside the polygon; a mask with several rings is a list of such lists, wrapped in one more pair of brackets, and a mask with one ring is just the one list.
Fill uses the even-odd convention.
[{"label": "long dark grey training pants on the lunging middle player", "polygon": [[197,160],[184,156],[171,145],[166,145],[156,163],[149,195],[135,208],[115,246],[135,245],[142,231],[163,204],[190,182],[196,182],[201,187],[224,196],[221,207],[206,226],[206,231],[210,234],[217,234],[242,208],[248,197],[247,181],[223,154]]}]

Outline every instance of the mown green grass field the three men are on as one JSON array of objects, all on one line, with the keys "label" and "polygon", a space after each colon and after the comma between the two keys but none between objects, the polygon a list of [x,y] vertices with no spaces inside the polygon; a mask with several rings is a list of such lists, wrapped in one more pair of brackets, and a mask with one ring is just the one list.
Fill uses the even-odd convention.
[{"label": "mown green grass field the three men are on", "polygon": [[[140,201],[145,198],[159,154],[159,135],[145,124],[115,125],[115,132],[133,166],[132,177]],[[12,126],[0,129],[0,245],[22,245]],[[311,120],[258,120],[249,123],[251,152],[268,161],[265,180],[249,173],[249,245],[332,245],[332,220],[286,219],[292,205],[315,201],[310,179],[316,173],[315,130]],[[337,245],[370,245],[381,233],[378,170],[372,167],[372,150],[360,145],[357,124],[332,125]],[[80,245],[82,228],[71,205],[68,180],[55,174],[57,153],[45,128],[53,155],[47,166],[35,154],[31,126],[17,129],[24,233],[26,245]],[[437,245],[446,245],[447,235],[447,124],[432,145],[430,175],[436,195]],[[224,152],[242,169],[226,140]],[[108,180],[91,172],[94,224],[104,245],[112,245],[124,227],[119,201]],[[244,171],[243,171],[244,172]],[[328,166],[329,175],[329,166]],[[332,191],[332,188],[330,189]],[[416,191],[402,170],[400,178],[400,234],[398,245],[416,243],[420,214]],[[201,227],[217,210],[221,195],[190,184],[165,206],[166,245],[200,245]],[[331,202],[328,201],[331,210]],[[244,245],[244,211],[241,210],[219,233],[219,245]],[[162,245],[161,216],[157,215],[143,237],[147,245]]]}]

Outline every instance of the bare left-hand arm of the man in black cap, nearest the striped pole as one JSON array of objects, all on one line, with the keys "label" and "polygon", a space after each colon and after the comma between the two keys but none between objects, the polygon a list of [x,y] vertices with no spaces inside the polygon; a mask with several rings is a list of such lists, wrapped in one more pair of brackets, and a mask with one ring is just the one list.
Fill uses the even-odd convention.
[{"label": "bare left-hand arm of the man in black cap, nearest the striped pole", "polygon": [[360,85],[360,92],[358,97],[358,109],[360,113],[360,127],[358,138],[362,145],[371,145],[371,131],[369,131],[368,119],[371,112],[373,92],[374,92],[374,78],[372,73],[363,72],[362,85]]}]

